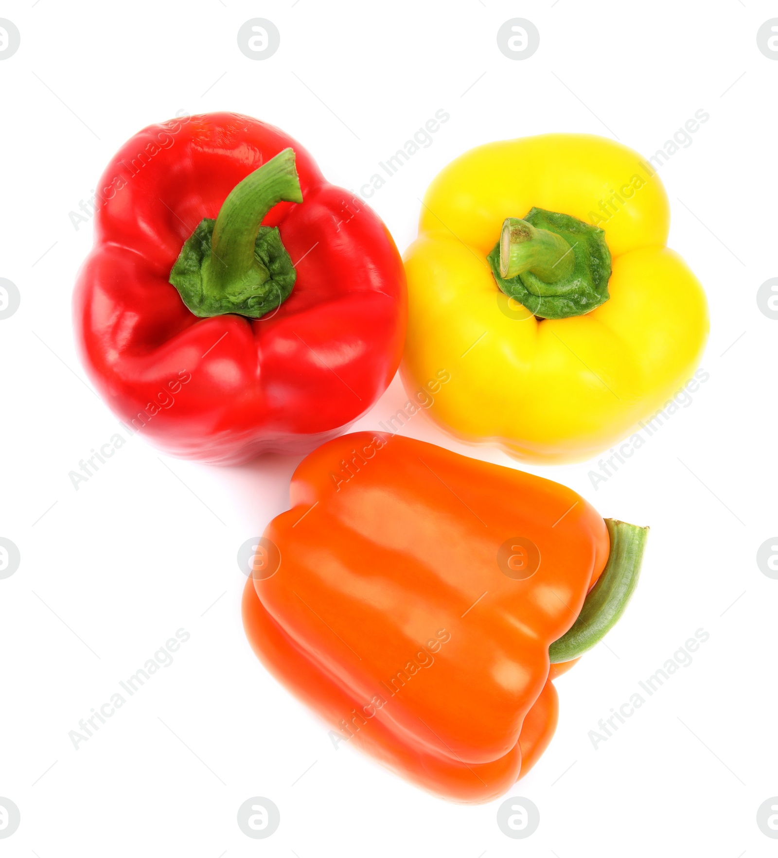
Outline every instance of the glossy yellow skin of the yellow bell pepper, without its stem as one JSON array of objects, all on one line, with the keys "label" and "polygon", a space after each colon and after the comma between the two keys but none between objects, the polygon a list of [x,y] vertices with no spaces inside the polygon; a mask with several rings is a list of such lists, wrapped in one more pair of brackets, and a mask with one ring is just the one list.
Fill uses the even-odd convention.
[{"label": "glossy yellow skin of the yellow bell pepper, without its stem", "polygon": [[[537,299],[529,311],[498,288],[487,257],[505,219],[533,208],[604,231],[610,297],[594,310],[540,318]],[[461,155],[427,190],[405,254],[407,390],[445,368],[451,381],[428,413],[528,461],[610,448],[691,378],[707,340],[703,288],[665,246],[669,221],[654,169],[611,140],[550,134]]]}]

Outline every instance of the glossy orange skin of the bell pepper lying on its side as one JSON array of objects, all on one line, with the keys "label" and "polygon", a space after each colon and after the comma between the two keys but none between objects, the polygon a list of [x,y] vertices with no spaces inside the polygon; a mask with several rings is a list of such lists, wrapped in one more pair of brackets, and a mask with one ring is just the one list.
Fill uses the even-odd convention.
[{"label": "glossy orange skin of the bell pepper lying on its side", "polygon": [[[603,519],[550,480],[371,432],[307,456],[290,495],[244,591],[256,655],[336,746],[452,801],[510,789],[552,738],[549,646],[606,565]],[[519,579],[498,563],[516,536],[540,551]]]}]

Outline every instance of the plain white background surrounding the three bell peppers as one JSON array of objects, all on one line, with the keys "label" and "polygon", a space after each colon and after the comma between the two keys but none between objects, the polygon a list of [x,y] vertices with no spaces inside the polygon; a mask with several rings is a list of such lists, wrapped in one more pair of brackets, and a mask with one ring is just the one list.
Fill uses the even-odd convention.
[{"label": "plain white background surrounding the three bell peppers", "polygon": [[[756,303],[778,274],[778,62],[756,41],[775,14],[758,0],[3,3],[21,48],[0,62],[0,276],[21,308],[0,321],[0,535],[21,566],[0,580],[0,795],[21,826],[0,853],[776,854],[756,823],[778,795],[778,581],[756,564],[778,532],[778,322]],[[256,16],[280,30],[262,62],[236,42]],[[540,31],[520,62],[496,42],[516,16]],[[371,199],[401,250],[427,184],[467,148],[582,131],[648,156],[710,114],[660,170],[670,245],[709,296],[709,381],[596,491],[592,463],[528,468],[652,530],[634,601],[607,647],[558,680],[557,734],[509,794],[540,808],[523,841],[498,830],[499,801],[455,806],[336,751],[251,653],[236,553],[286,509],[299,459],[206,467],[135,437],[78,491],[68,477],[118,427],[75,357],[70,296],[92,225],[76,231],[69,212],[129,136],[179,109],[244,112],[359,189],[439,108],[449,123]],[[395,378],[355,428],[405,399]],[[517,464],[423,416],[404,432]],[[69,730],[182,626],[172,666],[75,751]],[[594,750],[588,731],[701,627],[691,666]],[[266,840],[236,824],[254,795],[280,808]]]}]

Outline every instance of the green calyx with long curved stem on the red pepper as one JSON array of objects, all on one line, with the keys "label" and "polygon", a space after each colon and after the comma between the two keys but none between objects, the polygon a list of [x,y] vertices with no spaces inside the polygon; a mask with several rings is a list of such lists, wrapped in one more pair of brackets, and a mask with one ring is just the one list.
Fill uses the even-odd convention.
[{"label": "green calyx with long curved stem on the red pepper", "polygon": [[196,316],[261,318],[292,293],[297,272],[278,227],[262,227],[282,200],[303,202],[292,148],[237,184],[216,220],[204,218],[186,239],[170,282]]}]

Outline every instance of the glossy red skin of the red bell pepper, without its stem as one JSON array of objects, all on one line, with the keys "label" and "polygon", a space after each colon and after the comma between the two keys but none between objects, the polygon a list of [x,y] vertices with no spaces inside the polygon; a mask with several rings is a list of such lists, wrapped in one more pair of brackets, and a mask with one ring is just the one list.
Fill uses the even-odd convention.
[{"label": "glossy red skin of the red bell pepper, without its stem", "polygon": [[[262,318],[196,317],[168,281],[184,242],[290,147],[303,202],[262,222],[296,269],[291,295]],[[74,296],[81,360],[112,410],[167,453],[229,464],[307,452],[393,378],[407,317],[395,244],[280,130],[236,113],[150,125],[107,166],[96,200]]]}]

